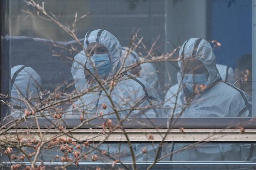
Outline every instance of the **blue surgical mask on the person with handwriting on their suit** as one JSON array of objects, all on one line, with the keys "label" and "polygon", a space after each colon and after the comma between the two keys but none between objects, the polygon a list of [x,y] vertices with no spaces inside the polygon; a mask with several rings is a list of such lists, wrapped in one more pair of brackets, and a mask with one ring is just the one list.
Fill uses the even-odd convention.
[{"label": "blue surgical mask on the person with handwriting on their suit", "polygon": [[[193,92],[196,85],[206,85],[207,73],[205,74],[182,74],[182,84],[185,85],[190,92]],[[200,91],[200,89],[199,89]]]}]

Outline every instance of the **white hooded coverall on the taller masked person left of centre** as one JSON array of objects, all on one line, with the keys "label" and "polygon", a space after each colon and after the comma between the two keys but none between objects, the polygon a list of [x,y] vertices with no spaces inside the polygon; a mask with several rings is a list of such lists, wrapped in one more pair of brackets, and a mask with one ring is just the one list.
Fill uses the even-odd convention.
[{"label": "white hooded coverall on the taller masked person left of centre", "polygon": [[[111,71],[108,75],[108,78],[116,74],[120,69],[121,62],[120,58],[122,57],[122,50],[119,41],[114,35],[109,33],[106,30],[94,30],[92,32],[87,32],[84,40],[84,48],[87,48],[87,45],[92,42],[99,42],[103,44],[109,51],[111,58]],[[80,54],[80,53],[79,53]],[[79,55],[82,58],[82,54]],[[86,56],[84,55],[86,59]],[[84,62],[85,59],[76,59],[76,61]],[[89,63],[89,58],[86,59],[87,64]],[[74,61],[74,62],[76,62]],[[77,63],[77,62],[76,62]],[[84,63],[85,64],[85,63]],[[75,65],[75,64],[73,64]],[[80,64],[81,65],[81,64]],[[83,67],[83,66],[81,66]],[[87,85],[81,86],[81,84],[86,82],[84,71],[78,67],[72,67],[72,75],[76,83],[76,89],[81,90],[86,88]],[[79,70],[79,71],[78,71]],[[78,73],[78,74],[76,74]],[[82,80],[84,78],[84,80]],[[77,84],[78,82],[78,84]],[[82,83],[80,83],[82,82]],[[126,111],[121,111],[118,114],[121,117],[125,117],[127,114],[130,114],[131,117],[160,117],[159,109],[147,108],[147,109],[138,109],[138,107],[152,107],[159,104],[159,97],[156,91],[149,85],[147,82],[140,78],[135,78],[132,74],[126,73],[119,81],[116,82],[114,90],[111,93],[111,98],[115,103],[117,109],[126,109]],[[128,100],[127,100],[128,99]],[[107,104],[107,109],[102,109],[102,104]],[[151,105],[151,106],[150,106]],[[74,107],[75,106],[75,107]],[[130,109],[130,108],[134,109]],[[129,110],[130,109],[130,110]],[[72,115],[70,111],[72,110]],[[113,113],[113,107],[111,106],[108,97],[106,96],[103,90],[89,92],[80,99],[78,99],[72,108],[68,109],[67,117],[80,117],[81,113],[86,111],[85,116],[92,117],[100,114],[102,111],[103,114]],[[116,114],[106,115],[104,117],[115,118]]]}]

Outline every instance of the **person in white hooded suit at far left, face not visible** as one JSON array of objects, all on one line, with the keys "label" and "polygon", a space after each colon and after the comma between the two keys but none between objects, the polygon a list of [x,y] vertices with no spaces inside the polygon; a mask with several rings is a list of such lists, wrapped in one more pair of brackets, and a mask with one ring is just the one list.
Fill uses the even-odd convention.
[{"label": "person in white hooded suit at far left, face not visible", "polygon": [[[31,67],[17,65],[11,69],[11,105],[13,117],[20,117],[20,110],[33,107],[39,100],[41,78]],[[20,100],[22,99],[22,100]],[[27,101],[28,103],[24,102]]]}]

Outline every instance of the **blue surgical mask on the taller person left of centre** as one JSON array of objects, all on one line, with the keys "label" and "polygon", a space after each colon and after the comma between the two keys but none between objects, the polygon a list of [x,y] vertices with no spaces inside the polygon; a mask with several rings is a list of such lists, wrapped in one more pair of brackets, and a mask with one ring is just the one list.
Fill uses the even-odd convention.
[{"label": "blue surgical mask on the taller person left of centre", "polygon": [[[111,62],[109,61],[108,53],[106,54],[94,54],[91,56],[91,60],[94,63],[95,69],[100,77],[107,76],[111,70]],[[92,64],[89,59],[89,69],[95,74]]]}]

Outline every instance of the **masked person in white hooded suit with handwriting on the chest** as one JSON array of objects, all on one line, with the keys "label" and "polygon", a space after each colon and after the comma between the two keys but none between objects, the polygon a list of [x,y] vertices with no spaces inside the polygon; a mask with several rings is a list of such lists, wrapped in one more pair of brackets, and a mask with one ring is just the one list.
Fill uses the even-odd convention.
[{"label": "masked person in white hooded suit with handwriting on the chest", "polygon": [[179,52],[178,84],[165,97],[164,112],[174,117],[251,117],[251,97],[222,81],[211,45],[187,40]]}]

